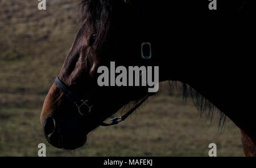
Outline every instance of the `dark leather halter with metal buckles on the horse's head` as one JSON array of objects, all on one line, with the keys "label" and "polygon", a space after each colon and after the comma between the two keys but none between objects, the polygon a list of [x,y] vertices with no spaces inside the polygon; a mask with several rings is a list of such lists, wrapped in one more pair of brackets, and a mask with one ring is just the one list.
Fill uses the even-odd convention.
[{"label": "dark leather halter with metal buckles on the horse's head", "polygon": [[[145,19],[146,19],[146,12],[145,12],[145,6],[146,6],[146,0],[142,0],[142,28],[146,28],[146,24],[144,23]],[[142,31],[142,41],[146,39],[146,35],[145,33]],[[148,46],[148,55],[144,54],[144,46]],[[144,60],[144,64],[147,65],[149,64],[149,59],[152,56],[151,53],[151,44],[150,42],[142,42],[141,45],[141,56]],[[59,79],[59,77],[57,76],[54,80],[55,84],[57,85],[57,87],[65,94],[65,96],[67,96],[69,98],[69,100],[71,100],[73,102],[73,104],[76,105],[77,110],[79,111],[79,113],[81,115],[86,115],[89,114],[90,111],[92,110],[93,104],[91,103],[91,101],[89,100],[82,100],[80,99],[76,94],[72,93],[66,86],[65,84]],[[129,115],[131,115],[139,106],[141,106],[143,104],[144,101],[147,100],[147,98],[149,96],[152,96],[155,93],[147,93],[147,95],[137,104],[135,105],[131,110],[129,110],[125,115],[122,115],[122,117],[114,117],[113,115],[109,117],[109,120],[112,121],[112,123],[100,123],[100,126],[113,126],[115,124],[118,124],[120,122],[122,122],[123,120],[125,120],[127,117],[129,117]],[[85,108],[87,113],[84,114],[82,113],[82,109]]]}]

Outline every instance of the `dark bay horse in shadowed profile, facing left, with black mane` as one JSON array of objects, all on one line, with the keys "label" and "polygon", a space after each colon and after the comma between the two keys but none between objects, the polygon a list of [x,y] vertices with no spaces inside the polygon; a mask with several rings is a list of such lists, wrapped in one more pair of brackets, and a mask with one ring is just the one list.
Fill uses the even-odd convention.
[{"label": "dark bay horse in shadowed profile, facing left, with black mane", "polygon": [[[245,156],[256,156],[254,1],[84,0],[81,28],[49,89],[40,122],[56,148],[76,149],[88,132],[117,124],[143,103],[147,87],[99,87],[97,68],[159,66],[159,81],[181,81],[199,111],[221,111],[242,132]],[[141,57],[150,42],[152,58]],[[146,49],[148,52],[149,49]],[[254,71],[253,71],[254,70]],[[141,100],[141,102],[139,102]],[[102,123],[131,101],[122,118]]]}]

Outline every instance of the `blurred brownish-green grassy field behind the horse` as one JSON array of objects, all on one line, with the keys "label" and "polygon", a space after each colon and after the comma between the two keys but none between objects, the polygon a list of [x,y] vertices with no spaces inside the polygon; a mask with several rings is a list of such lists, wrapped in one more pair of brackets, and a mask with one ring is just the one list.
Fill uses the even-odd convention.
[{"label": "blurred brownish-green grassy field behind the horse", "polygon": [[[200,118],[181,88],[160,84],[135,114],[118,126],[99,127],[77,150],[52,147],[39,117],[44,98],[79,30],[79,0],[0,0],[0,156],[243,156],[240,130],[227,119],[218,129],[218,116]],[[118,114],[117,114],[118,115]]]}]

